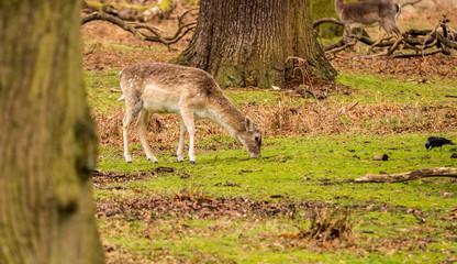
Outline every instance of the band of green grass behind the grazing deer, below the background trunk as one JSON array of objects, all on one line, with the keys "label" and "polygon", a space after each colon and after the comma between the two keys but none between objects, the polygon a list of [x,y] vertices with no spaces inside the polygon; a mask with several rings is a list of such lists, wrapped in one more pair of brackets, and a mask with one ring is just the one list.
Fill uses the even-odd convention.
[{"label": "band of green grass behind the grazing deer, below the background trunk", "polygon": [[[115,99],[121,94],[112,90],[120,90],[119,72],[110,69],[103,72],[86,72],[86,86],[88,100],[93,111],[108,114],[113,109],[119,109],[123,102]],[[337,82],[349,86],[353,89],[350,96],[330,97],[330,101],[359,101],[359,105],[375,103],[400,103],[412,106],[446,106],[455,105],[457,96],[457,80],[431,79],[430,84],[415,84],[408,77],[387,77],[375,75],[350,75],[341,74]],[[300,106],[310,101],[309,99],[294,99],[279,91],[265,90],[226,90],[231,100],[236,107],[247,103],[257,106],[278,106],[278,99],[287,103]]]}]

